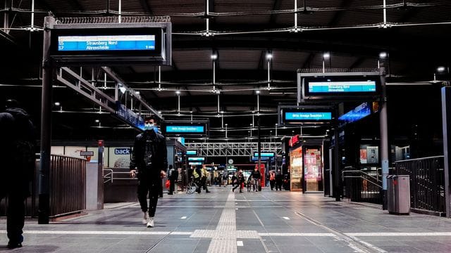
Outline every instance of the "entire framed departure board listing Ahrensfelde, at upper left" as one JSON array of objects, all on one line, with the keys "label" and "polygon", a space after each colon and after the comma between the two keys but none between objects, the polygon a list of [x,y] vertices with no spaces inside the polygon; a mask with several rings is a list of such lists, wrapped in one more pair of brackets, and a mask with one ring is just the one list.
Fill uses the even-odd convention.
[{"label": "entire framed departure board listing Ahrensfelde, at upper left", "polygon": [[50,56],[59,65],[170,65],[171,23],[56,24]]}]

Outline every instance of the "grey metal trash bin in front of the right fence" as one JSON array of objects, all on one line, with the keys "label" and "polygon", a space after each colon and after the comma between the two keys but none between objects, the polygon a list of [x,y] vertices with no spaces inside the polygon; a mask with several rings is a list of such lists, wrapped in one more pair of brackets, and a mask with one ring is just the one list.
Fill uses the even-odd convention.
[{"label": "grey metal trash bin in front of the right fence", "polygon": [[409,175],[387,176],[388,212],[410,214]]}]

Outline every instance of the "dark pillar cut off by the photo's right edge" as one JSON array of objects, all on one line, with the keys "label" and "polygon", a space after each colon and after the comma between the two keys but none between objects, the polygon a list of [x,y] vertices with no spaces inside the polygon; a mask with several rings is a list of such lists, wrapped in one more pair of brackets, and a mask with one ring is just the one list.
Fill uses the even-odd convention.
[{"label": "dark pillar cut off by the photo's right edge", "polygon": [[451,217],[451,87],[442,88],[442,125],[443,125],[443,155],[445,164],[445,207],[447,218]]}]

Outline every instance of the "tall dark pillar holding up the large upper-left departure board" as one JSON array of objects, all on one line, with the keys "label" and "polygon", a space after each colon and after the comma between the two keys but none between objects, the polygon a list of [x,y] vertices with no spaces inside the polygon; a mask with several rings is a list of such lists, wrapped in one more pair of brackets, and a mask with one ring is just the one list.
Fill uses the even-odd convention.
[{"label": "tall dark pillar holding up the large upper-left departure board", "polygon": [[51,86],[54,70],[51,65],[50,35],[55,18],[44,18],[44,47],[42,51],[42,105],[41,105],[41,166],[39,167],[38,223],[48,224],[50,215],[50,150],[51,150]]}]

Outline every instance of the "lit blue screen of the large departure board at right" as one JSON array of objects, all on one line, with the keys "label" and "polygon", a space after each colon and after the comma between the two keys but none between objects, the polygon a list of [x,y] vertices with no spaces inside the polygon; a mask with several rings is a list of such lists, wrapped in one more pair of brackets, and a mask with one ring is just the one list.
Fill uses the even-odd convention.
[{"label": "lit blue screen of the large departure board at right", "polygon": [[309,93],[376,92],[376,82],[309,82]]}]

